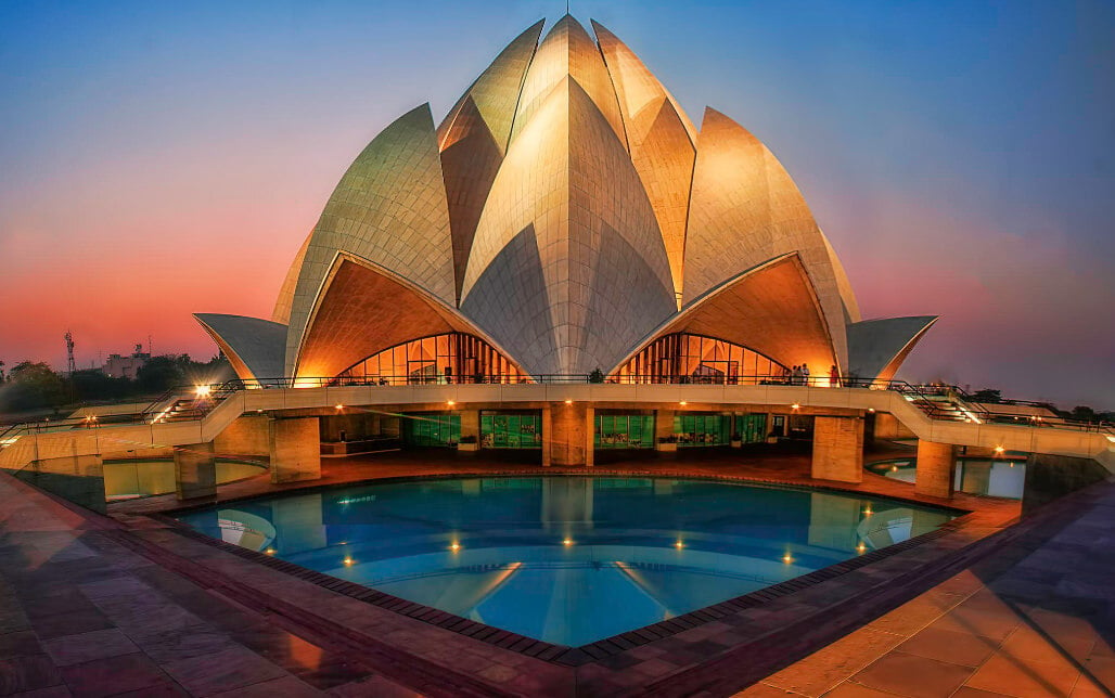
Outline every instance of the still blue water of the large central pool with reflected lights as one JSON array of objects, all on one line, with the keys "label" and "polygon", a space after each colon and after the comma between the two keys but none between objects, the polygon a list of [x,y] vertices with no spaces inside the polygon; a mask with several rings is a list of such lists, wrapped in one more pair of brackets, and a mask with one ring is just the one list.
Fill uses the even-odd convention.
[{"label": "still blue water of the large central pool with reflected lights", "polygon": [[804,488],[555,476],[360,485],[180,520],[304,568],[575,647],[885,547],[952,516]]}]

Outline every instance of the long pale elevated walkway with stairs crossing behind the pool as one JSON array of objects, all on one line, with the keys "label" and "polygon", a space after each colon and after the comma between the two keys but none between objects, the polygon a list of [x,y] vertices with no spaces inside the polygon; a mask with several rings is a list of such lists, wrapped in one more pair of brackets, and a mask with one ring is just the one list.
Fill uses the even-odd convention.
[{"label": "long pale elevated walkway with stairs crossing behind the pool", "polygon": [[[165,400],[169,409],[187,396]],[[947,409],[927,409],[917,396],[899,390],[815,388],[758,385],[408,385],[316,388],[241,389],[214,395],[205,410],[178,409],[174,418],[148,417],[142,423],[58,425],[49,430],[25,426],[0,435],[0,467],[20,469],[28,463],[71,456],[97,455],[152,447],[212,442],[241,415],[268,413],[287,416],[334,414],[337,405],[375,409],[460,409],[468,405],[531,408],[574,400],[599,408],[739,409],[824,415],[849,411],[889,413],[922,440],[1025,453],[1092,458],[1115,473],[1115,435],[1109,429],[1070,428],[1048,423],[999,424],[966,414],[957,400]],[[795,407],[796,410],[795,410]]]}]

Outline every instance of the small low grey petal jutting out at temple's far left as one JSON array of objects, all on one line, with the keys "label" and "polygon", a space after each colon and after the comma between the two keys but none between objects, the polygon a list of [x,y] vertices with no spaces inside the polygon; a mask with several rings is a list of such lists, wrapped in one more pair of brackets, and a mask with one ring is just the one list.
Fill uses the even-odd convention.
[{"label": "small low grey petal jutting out at temple's far left", "polygon": [[282,377],[285,324],[211,312],[196,312],[194,319],[229,357],[237,377],[244,380]]}]

